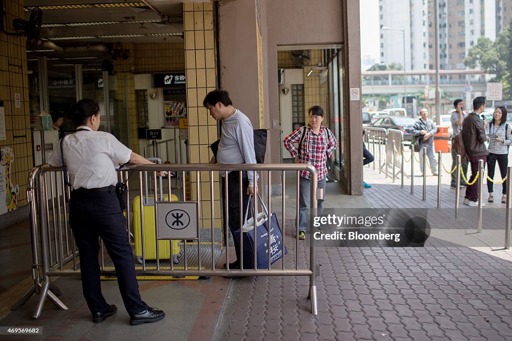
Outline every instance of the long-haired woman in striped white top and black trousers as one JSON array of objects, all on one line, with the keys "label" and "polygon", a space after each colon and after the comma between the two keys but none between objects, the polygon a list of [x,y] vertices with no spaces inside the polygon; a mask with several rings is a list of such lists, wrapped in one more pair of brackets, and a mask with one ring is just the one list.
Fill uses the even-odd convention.
[{"label": "long-haired woman in striped white top and black trousers", "polygon": [[[507,175],[508,165],[508,147],[512,143],[512,134],[510,132],[510,126],[506,122],[507,110],[503,106],[497,106],[494,110],[493,120],[487,124],[485,133],[489,141],[487,151],[489,156],[487,157],[487,173],[489,178],[494,180],[494,169],[496,168],[496,161],[500,167],[501,178],[504,179]],[[493,182],[487,179],[487,190],[489,192],[488,202],[493,202]],[[502,184],[501,202],[505,203],[507,196],[507,185],[506,181]]]}]

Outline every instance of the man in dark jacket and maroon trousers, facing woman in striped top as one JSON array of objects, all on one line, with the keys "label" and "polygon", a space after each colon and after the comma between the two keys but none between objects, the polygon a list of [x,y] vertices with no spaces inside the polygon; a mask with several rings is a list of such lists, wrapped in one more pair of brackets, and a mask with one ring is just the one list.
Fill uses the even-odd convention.
[{"label": "man in dark jacket and maroon trousers, facing woman in striped top", "polygon": [[[468,182],[473,182],[478,172],[478,160],[483,160],[485,164],[487,160],[487,148],[484,142],[487,140],[485,135],[485,123],[480,119],[480,114],[485,109],[485,97],[476,97],[473,100],[473,112],[469,114],[462,125],[462,139],[467,157],[471,163],[471,177]],[[469,206],[478,206],[478,182],[479,179],[471,186],[466,187],[466,195],[464,196],[464,204]]]}]

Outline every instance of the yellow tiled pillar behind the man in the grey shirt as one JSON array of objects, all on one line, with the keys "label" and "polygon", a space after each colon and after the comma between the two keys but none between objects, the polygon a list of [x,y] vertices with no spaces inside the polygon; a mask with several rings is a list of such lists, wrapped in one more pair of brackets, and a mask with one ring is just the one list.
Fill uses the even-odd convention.
[{"label": "yellow tiled pillar behind the man in the grey shirt", "polygon": [[[203,106],[206,94],[216,88],[215,39],[212,4],[184,3],[185,69],[187,77],[188,144],[191,163],[207,163],[212,157],[208,148],[218,139],[217,121]],[[196,172],[191,172],[192,200],[197,200]],[[214,182],[214,227],[221,227],[219,175]],[[211,226],[209,172],[200,172],[201,227]],[[204,199],[204,200],[203,200]]]}]

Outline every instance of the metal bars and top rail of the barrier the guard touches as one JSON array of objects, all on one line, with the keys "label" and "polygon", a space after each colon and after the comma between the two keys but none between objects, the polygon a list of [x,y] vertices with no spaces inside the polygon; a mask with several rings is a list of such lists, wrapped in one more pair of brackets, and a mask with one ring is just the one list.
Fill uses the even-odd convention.
[{"label": "metal bars and top rail of the barrier the guard touches", "polygon": [[[156,179],[156,172],[168,172],[167,174],[170,174],[170,172],[179,172],[178,174],[182,175],[182,182],[183,182],[183,188],[185,188],[185,172],[197,172],[197,183],[200,184],[199,174],[200,172],[207,172],[209,174],[209,181],[210,181],[210,201],[214,200],[214,189],[213,189],[213,182],[214,179],[214,172],[219,172],[219,174],[224,173],[224,175],[227,175],[228,172],[239,172],[240,174],[242,172],[267,172],[267,175],[270,177],[270,172],[280,172],[283,173],[285,171],[292,171],[296,172],[298,175],[301,171],[307,171],[311,175],[311,188],[310,188],[310,207],[312,209],[312,213],[316,214],[317,209],[317,194],[316,194],[316,183],[317,183],[317,173],[316,169],[311,164],[147,164],[147,165],[124,165],[118,172],[125,173],[125,172],[139,172],[139,182],[142,183],[142,172],[153,172],[154,174],[154,188],[155,188],[155,196],[157,196],[158,189],[157,189],[157,179]],[[62,238],[58,238],[56,242],[59,243],[59,245],[55,245],[55,249],[58,250],[65,250],[66,252],[60,252],[60,255],[55,257],[54,262],[50,258],[50,252],[51,249],[54,247],[54,245],[51,243],[51,238],[55,237],[55,221],[53,221],[53,234],[50,230],[50,214],[49,214],[49,205],[55,205],[55,202],[53,201],[53,198],[50,198],[52,200],[49,200],[48,197],[48,185],[53,186],[53,183],[48,184],[47,183],[47,174],[53,174],[55,173],[55,177],[50,176],[50,182],[55,179],[55,182],[58,181],[59,177],[57,176],[59,173],[62,174],[62,168],[61,167],[51,167],[49,165],[41,165],[37,166],[30,172],[29,179],[28,179],[28,186],[27,186],[27,198],[30,203],[30,219],[31,219],[31,237],[32,237],[32,252],[33,252],[33,280],[34,285],[22,296],[22,298],[16,303],[16,305],[13,307],[16,309],[19,309],[23,306],[24,303],[26,303],[30,297],[34,293],[40,293],[37,301],[36,308],[34,310],[33,317],[38,318],[42,312],[42,307],[46,301],[46,298],[50,299],[59,309],[66,310],[68,309],[65,304],[63,304],[56,296],[56,292],[58,292],[58,289],[53,285],[50,278],[51,276],[60,276],[60,275],[80,275],[80,271],[77,270],[76,266],[73,266],[71,269],[69,266],[66,266],[68,263],[73,261],[73,265],[75,265],[77,250],[75,246],[73,245],[71,247],[71,250],[68,245],[64,245]],[[203,180],[204,181],[204,180]],[[241,186],[240,182],[240,186]],[[227,181],[226,181],[227,186]],[[283,184],[284,186],[284,184]],[[143,186],[140,185],[139,188],[139,195],[140,198],[143,197]],[[58,188],[58,187],[57,187]],[[162,187],[160,187],[162,188]],[[270,182],[265,186],[265,188],[269,191],[269,199],[270,199]],[[53,193],[53,187],[51,187],[51,191]],[[57,189],[57,200],[56,205],[60,205],[60,196],[59,196],[59,189]],[[62,204],[65,205],[66,202],[66,196],[65,194],[68,192],[68,188],[62,187]],[[162,191],[162,189],[160,189]],[[161,193],[160,193],[161,194]],[[283,191],[284,195],[284,191]],[[53,194],[52,194],[53,197]],[[168,200],[170,201],[170,188],[169,188],[169,196]],[[240,196],[240,201],[242,200]],[[199,219],[199,203],[207,201],[207,198],[201,198],[200,196],[200,186],[197,186],[197,196],[196,201],[198,202],[198,219]],[[298,200],[297,200],[298,201]],[[211,203],[210,203],[211,204]],[[269,215],[270,213],[270,201],[269,201]],[[37,206],[36,206],[37,205]],[[144,236],[144,226],[143,226],[143,217],[142,217],[142,200],[140,200],[141,205],[141,232],[142,236]],[[298,206],[298,202],[297,202]],[[212,206],[213,207],[213,206]],[[52,206],[52,210],[55,209],[55,207]],[[157,216],[157,209],[158,206],[155,207],[155,218]],[[241,206],[242,209],[242,206]],[[219,212],[220,213],[220,212]],[[253,216],[256,216],[256,206],[254,206]],[[282,227],[282,236],[284,240],[284,232],[285,232],[285,216],[284,216],[284,207],[283,207],[283,227]],[[61,219],[60,217],[57,219]],[[63,218],[65,222],[67,222],[67,217],[65,216]],[[214,212],[211,212],[211,220],[212,220],[212,226],[211,228],[214,228],[213,220],[214,220]],[[270,217],[268,218],[269,224],[268,227],[268,249],[267,252],[269,252],[270,257],[270,237],[271,237],[271,223],[270,223]],[[158,222],[157,226],[158,226]],[[62,236],[62,230],[60,227],[60,220],[58,221],[58,233],[59,237]],[[67,228],[68,225],[66,225]],[[129,227],[128,227],[129,228]],[[227,230],[227,226],[225,226]],[[298,228],[298,225],[297,225]],[[200,245],[200,236],[199,236],[199,225],[198,225],[198,238],[197,244]],[[255,229],[254,233],[255,233]],[[180,276],[180,275],[191,275],[191,276],[208,276],[208,275],[279,275],[279,276],[309,276],[310,277],[310,285],[309,285],[309,294],[308,297],[311,298],[311,311],[313,314],[317,314],[317,296],[316,296],[316,276],[317,276],[317,259],[316,259],[316,239],[313,238],[313,226],[312,224],[309,225],[309,243],[310,243],[310,250],[309,250],[309,269],[308,268],[299,268],[299,265],[297,262],[295,262],[294,267],[290,269],[285,269],[285,255],[284,255],[284,243],[281,247],[282,250],[282,268],[280,269],[274,269],[271,267],[270,262],[268,263],[268,267],[266,269],[258,269],[257,263],[254,263],[253,269],[216,269],[215,263],[212,262],[212,266],[209,269],[206,269],[204,266],[201,266],[201,263],[199,261],[199,267],[198,268],[190,268],[187,267],[187,257],[186,257],[186,248],[184,248],[184,257],[185,257],[185,267],[184,269],[176,269],[171,266],[170,270],[161,269],[159,266],[159,257],[158,257],[158,229],[156,234],[156,252],[157,252],[157,269],[146,269],[144,264],[144,241],[142,240],[142,257],[143,257],[143,270],[136,270],[137,274],[143,274],[143,275],[173,275],[173,276]],[[316,229],[315,229],[316,231]],[[130,233],[130,231],[128,231]],[[252,232],[249,232],[252,233]],[[213,236],[213,230],[212,230],[212,236]],[[254,235],[254,237],[256,237]],[[143,238],[143,237],[141,237]],[[295,237],[298,241],[298,233]],[[187,241],[183,241],[184,245],[186,246]],[[214,241],[212,239],[212,252],[214,251]],[[240,244],[241,252],[243,252],[243,242]],[[255,247],[256,249],[256,247]],[[297,251],[297,250],[296,250]],[[172,251],[171,251],[172,252]],[[226,246],[226,261],[227,264],[229,264],[228,256],[229,253],[229,245]],[[254,252],[256,253],[256,252]],[[242,253],[243,254],[243,253]],[[256,255],[254,254],[254,257]],[[297,252],[295,252],[295,258],[297,257]],[[198,247],[198,258],[201,259],[200,250]],[[212,255],[212,260],[214,260]],[[243,256],[242,260],[243,262]],[[171,262],[172,264],[172,262]],[[101,267],[101,273],[103,275],[108,274],[115,274],[115,271],[111,270],[105,270],[104,267],[104,261],[102,259],[102,267]]]}]

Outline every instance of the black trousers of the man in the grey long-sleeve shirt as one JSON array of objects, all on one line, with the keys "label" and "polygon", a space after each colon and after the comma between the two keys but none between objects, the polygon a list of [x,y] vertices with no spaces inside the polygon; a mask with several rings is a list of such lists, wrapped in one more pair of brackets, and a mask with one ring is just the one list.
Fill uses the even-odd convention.
[{"label": "black trousers of the man in the grey long-sleeve shirt", "polygon": [[[242,207],[240,207],[240,180],[239,180],[239,172],[230,172],[227,175],[227,202],[226,202],[226,179],[222,177],[222,200],[224,203],[224,209],[226,209],[226,205],[228,207],[228,225],[229,230],[231,231],[231,236],[234,240],[234,231],[240,229],[240,209],[242,209],[242,224],[245,220],[245,209],[247,208],[247,203],[249,201],[249,196],[247,195],[247,187],[249,186],[249,180],[247,179],[246,172],[242,172],[244,176],[242,177]],[[224,226],[226,226],[226,214],[223,212],[224,217]],[[224,236],[224,239],[227,242],[227,236]],[[234,249],[237,252],[237,260],[240,260],[240,243],[238,240],[234,240]],[[245,268],[245,261],[244,261]]]}]

